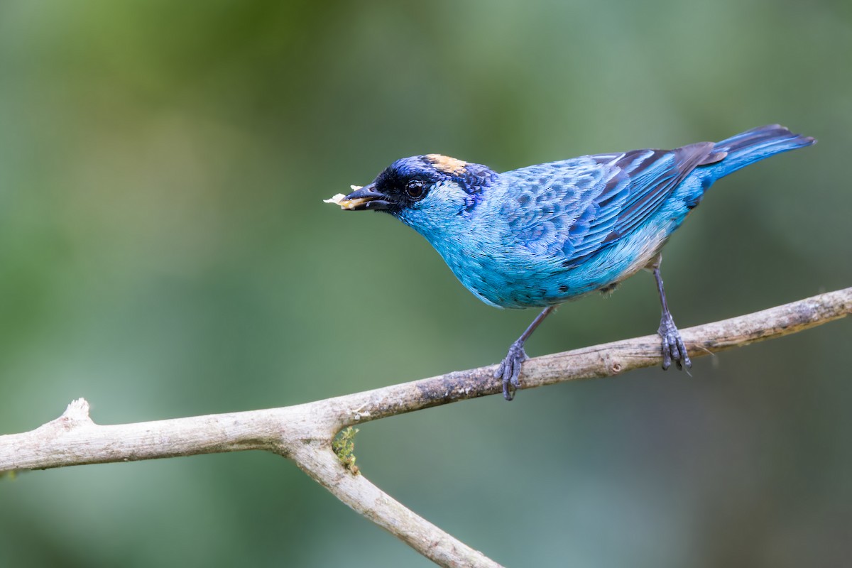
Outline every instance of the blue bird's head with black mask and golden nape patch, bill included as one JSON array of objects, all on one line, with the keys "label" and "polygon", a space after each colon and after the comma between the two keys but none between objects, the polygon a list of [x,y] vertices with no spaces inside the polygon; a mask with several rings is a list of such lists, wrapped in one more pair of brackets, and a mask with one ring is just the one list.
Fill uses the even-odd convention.
[{"label": "blue bird's head with black mask and golden nape patch, bill included", "polygon": [[384,211],[419,232],[469,215],[497,178],[491,169],[440,154],[402,158],[371,184],[336,201],[351,211]]}]

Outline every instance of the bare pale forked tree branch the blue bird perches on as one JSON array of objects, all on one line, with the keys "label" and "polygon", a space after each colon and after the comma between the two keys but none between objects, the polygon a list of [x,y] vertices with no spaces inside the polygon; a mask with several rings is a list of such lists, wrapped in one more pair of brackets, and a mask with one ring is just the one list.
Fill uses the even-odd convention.
[{"label": "bare pale forked tree branch the blue bird perches on", "polygon": [[[786,336],[852,313],[852,288],[682,330],[692,358]],[[660,363],[659,336],[614,341],[530,359],[522,388],[614,376]],[[0,473],[87,463],[133,462],[238,450],[268,450],[296,462],[349,507],[441,566],[498,566],[348,471],[331,450],[343,427],[500,393],[494,366],[284,408],[101,426],[78,399],[31,432],[0,436]]]}]

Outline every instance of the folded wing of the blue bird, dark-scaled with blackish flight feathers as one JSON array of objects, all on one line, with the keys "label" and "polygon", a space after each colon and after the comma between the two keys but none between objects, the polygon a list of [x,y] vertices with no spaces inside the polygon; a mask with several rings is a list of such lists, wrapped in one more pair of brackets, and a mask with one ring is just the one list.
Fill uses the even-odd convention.
[{"label": "folded wing of the blue bird, dark-scaled with blackish flight feathers", "polygon": [[723,157],[699,142],[516,169],[504,174],[512,191],[503,214],[520,244],[570,267],[647,221],[696,166]]}]

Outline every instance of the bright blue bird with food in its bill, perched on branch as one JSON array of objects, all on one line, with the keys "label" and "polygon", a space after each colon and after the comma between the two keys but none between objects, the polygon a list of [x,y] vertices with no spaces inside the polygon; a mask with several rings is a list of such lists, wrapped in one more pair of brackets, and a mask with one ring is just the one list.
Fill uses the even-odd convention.
[{"label": "bright blue bird with food in its bill, perched on branch", "polygon": [[[412,227],[477,298],[500,308],[544,308],[494,372],[506,400],[521,387],[524,345],[564,301],[610,292],[653,273],[662,308],[662,368],[692,366],[672,318],[660,250],[718,179],[810,146],[780,124],[719,142],[570,158],[498,173],[441,154],[401,158],[366,186],[326,202],[381,211]],[[687,371],[688,372],[688,371]]]}]

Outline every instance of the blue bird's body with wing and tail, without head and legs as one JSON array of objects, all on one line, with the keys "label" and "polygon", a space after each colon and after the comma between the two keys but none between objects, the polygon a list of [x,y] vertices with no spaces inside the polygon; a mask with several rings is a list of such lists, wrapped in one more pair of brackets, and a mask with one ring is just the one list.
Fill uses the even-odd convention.
[{"label": "blue bird's body with wing and tail, without head and legs", "polygon": [[713,181],[812,143],[772,125],[716,144],[505,172],[475,212],[473,257],[448,263],[463,284],[499,307],[541,307],[607,289],[659,253]]}]

